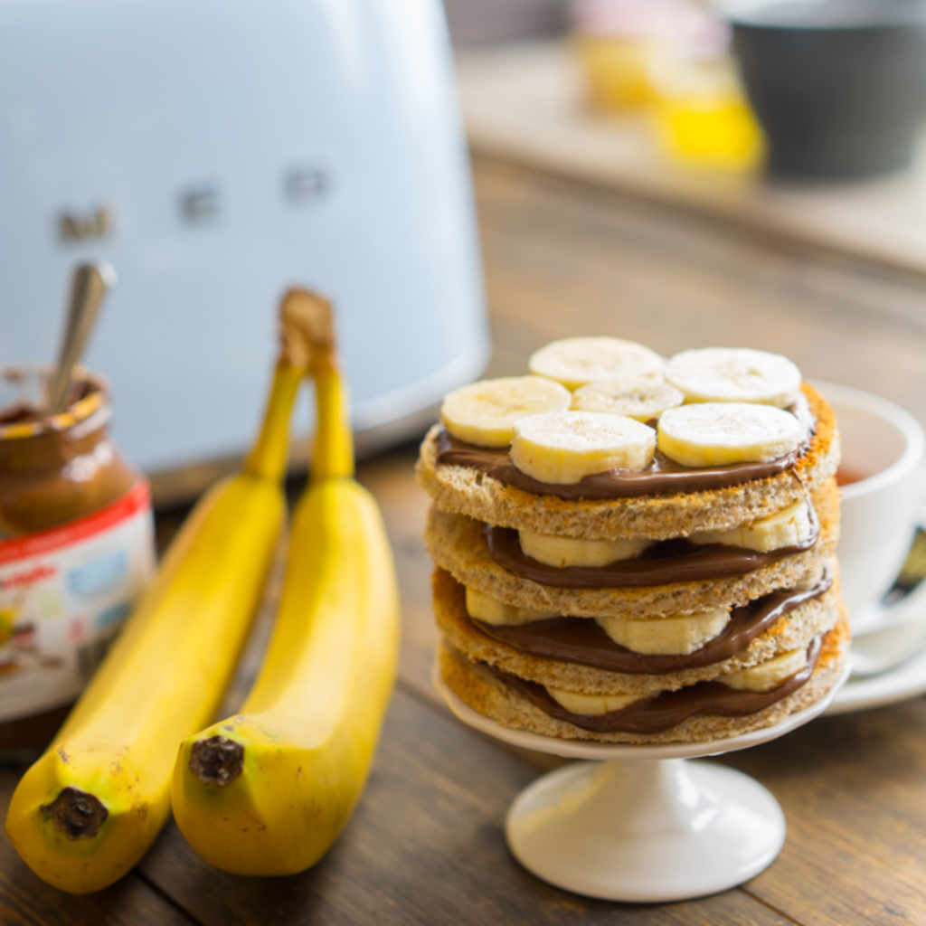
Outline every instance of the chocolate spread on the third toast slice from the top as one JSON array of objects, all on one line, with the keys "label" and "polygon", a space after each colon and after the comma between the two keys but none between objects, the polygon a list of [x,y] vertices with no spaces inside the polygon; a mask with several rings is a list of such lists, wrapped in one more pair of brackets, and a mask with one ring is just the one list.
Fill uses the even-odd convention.
[{"label": "chocolate spread on the third toast slice from the top", "polygon": [[832,573],[827,569],[813,588],[772,592],[744,607],[735,607],[723,632],[688,655],[634,653],[616,644],[592,618],[551,618],[518,626],[499,626],[470,619],[494,640],[531,656],[573,662],[607,672],[666,675],[712,666],[735,656],[789,611],[812,598],[819,598],[831,588]]}]

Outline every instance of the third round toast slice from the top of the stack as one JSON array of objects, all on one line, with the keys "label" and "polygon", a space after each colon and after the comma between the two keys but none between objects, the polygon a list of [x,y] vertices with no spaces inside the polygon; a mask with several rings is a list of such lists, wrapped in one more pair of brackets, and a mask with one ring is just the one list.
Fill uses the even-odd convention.
[{"label": "third round toast slice from the top of the stack", "polygon": [[737,669],[765,662],[778,653],[806,648],[829,632],[840,617],[838,577],[826,593],[783,615],[747,648],[732,657],[697,669],[663,675],[637,675],[594,669],[573,662],[532,656],[495,640],[469,619],[466,590],[449,572],[435,569],[432,581],[434,615],[444,639],[472,662],[485,662],[531,682],[581,694],[655,694],[708,682]]}]

